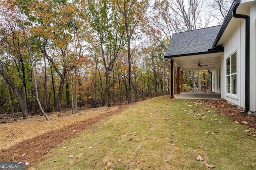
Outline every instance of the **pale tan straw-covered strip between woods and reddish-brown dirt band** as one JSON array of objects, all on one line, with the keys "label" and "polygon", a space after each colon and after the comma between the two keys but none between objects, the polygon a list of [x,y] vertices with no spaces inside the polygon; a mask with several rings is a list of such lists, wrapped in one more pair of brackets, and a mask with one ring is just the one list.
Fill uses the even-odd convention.
[{"label": "pale tan straw-covered strip between woods and reddish-brown dirt band", "polygon": [[[76,114],[72,114],[72,111],[55,112],[48,115],[50,121],[46,121],[44,116],[32,115],[29,119],[21,119],[20,121],[12,123],[1,123],[0,149],[10,148],[10,146],[22,140],[39,136],[74,122],[116,109],[118,109],[118,107],[100,107],[78,111]],[[1,120],[10,122],[13,118],[4,119],[1,117]]]}]

